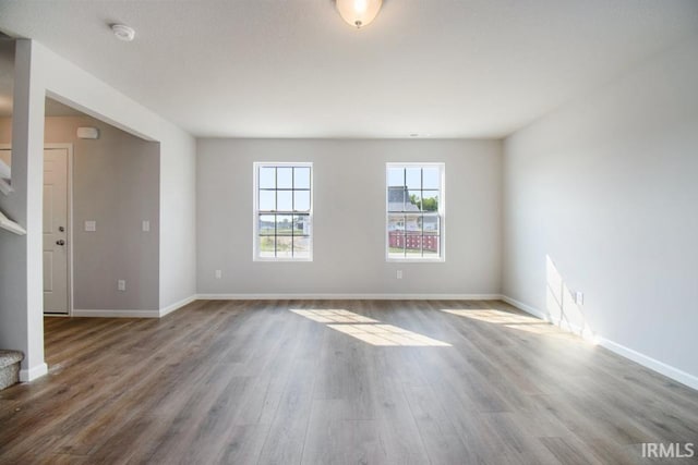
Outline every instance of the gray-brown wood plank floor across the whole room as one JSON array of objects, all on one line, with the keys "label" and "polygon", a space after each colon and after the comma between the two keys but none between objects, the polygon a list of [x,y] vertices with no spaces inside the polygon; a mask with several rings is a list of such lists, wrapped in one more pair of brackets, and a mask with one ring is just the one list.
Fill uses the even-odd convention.
[{"label": "gray-brown wood plank floor across the whole room", "polygon": [[638,464],[642,442],[698,445],[698,392],[502,302],[45,326],[49,375],[0,393],[2,464]]}]

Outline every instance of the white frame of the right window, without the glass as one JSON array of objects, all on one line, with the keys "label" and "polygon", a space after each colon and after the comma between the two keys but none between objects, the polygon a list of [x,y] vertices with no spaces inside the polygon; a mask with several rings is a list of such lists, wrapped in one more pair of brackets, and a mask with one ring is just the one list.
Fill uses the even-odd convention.
[{"label": "white frame of the right window, without the glass", "polygon": [[[389,193],[388,193],[388,171],[390,168],[437,168],[440,173],[440,188],[438,188],[438,223],[440,223],[440,238],[438,238],[438,257],[392,257],[390,256],[390,238],[388,235],[390,211],[388,206]],[[393,261],[399,264],[414,262],[414,264],[434,264],[446,261],[446,163],[444,162],[387,162],[385,163],[385,186],[383,188],[385,195],[385,225],[383,228],[383,234],[385,237],[385,261]],[[395,212],[393,212],[395,213]]]}]

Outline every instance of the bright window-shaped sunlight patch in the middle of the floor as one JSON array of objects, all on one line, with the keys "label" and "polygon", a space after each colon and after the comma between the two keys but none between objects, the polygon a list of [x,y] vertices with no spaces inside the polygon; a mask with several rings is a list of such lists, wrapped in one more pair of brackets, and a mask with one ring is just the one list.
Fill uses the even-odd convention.
[{"label": "bright window-shaped sunlight patch in the middle of the floor", "polygon": [[450,347],[438,341],[393,325],[385,325],[373,318],[344,309],[300,310],[296,315],[309,318],[360,341],[376,346]]}]

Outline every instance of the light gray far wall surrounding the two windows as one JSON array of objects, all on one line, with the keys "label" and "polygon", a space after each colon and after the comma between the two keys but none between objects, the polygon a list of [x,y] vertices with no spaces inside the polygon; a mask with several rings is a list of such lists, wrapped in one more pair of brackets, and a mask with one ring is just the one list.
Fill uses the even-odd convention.
[{"label": "light gray far wall surrounding the two windows", "polygon": [[[312,262],[253,261],[255,161],[314,163]],[[387,161],[446,163],[445,262],[385,261]],[[493,140],[200,139],[198,292],[498,294],[501,161]]]}]

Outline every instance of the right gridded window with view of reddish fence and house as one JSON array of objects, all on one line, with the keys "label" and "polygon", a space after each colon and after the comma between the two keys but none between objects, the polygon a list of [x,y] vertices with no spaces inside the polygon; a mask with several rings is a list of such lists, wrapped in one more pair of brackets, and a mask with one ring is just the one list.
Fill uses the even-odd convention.
[{"label": "right gridded window with view of reddish fence and house", "polygon": [[387,163],[388,260],[444,260],[444,163]]}]

